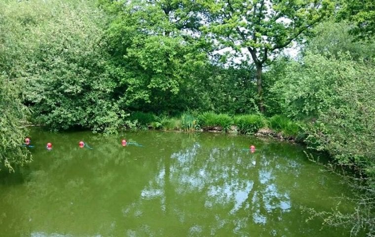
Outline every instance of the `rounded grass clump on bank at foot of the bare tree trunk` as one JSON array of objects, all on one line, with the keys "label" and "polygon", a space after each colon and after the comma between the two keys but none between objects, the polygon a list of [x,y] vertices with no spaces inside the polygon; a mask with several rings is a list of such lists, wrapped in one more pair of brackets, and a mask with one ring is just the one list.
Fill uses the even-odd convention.
[{"label": "rounded grass clump on bank at foot of the bare tree trunk", "polygon": [[234,117],[234,123],[239,133],[255,133],[265,125],[265,119],[261,115],[241,115]]}]

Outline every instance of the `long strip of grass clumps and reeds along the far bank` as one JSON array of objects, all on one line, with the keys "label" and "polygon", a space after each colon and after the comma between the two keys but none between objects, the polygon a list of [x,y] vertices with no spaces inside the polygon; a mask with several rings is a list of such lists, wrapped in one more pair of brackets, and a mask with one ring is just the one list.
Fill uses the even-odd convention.
[{"label": "long strip of grass clumps and reeds along the far bank", "polygon": [[228,115],[214,112],[190,113],[181,116],[156,116],[151,113],[135,112],[125,121],[128,130],[178,130],[235,132],[272,136],[280,139],[301,141],[305,124],[284,116],[266,118],[260,114]]}]

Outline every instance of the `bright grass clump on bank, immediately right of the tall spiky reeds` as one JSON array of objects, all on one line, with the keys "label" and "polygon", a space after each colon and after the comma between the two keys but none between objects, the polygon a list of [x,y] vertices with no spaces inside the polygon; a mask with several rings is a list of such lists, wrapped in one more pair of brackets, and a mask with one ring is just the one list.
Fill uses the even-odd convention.
[{"label": "bright grass clump on bank, immediately right of the tall spiky reeds", "polygon": [[233,124],[233,118],[227,114],[215,114],[204,112],[198,116],[198,123],[201,127],[222,127],[223,131],[228,131]]}]

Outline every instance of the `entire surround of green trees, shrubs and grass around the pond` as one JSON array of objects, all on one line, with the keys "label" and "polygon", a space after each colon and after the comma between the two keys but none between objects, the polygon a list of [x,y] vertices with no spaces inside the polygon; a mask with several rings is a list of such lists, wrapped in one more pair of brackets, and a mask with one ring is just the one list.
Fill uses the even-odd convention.
[{"label": "entire surround of green trees, shrubs and grass around the pond", "polygon": [[1,165],[31,159],[28,120],[105,133],[269,126],[374,191],[373,1],[267,2],[1,1]]}]

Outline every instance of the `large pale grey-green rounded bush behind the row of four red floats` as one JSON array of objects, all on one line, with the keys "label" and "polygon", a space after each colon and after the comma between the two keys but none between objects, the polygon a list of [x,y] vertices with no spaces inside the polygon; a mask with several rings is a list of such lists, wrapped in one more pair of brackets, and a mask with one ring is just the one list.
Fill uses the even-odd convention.
[{"label": "large pale grey-green rounded bush behind the row of four red floats", "polygon": [[54,129],[110,129],[122,113],[106,69],[103,13],[84,3],[52,10],[53,19],[39,21],[30,33],[38,39],[27,65],[27,101],[35,118]]}]

